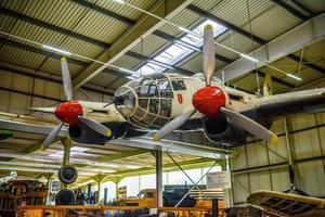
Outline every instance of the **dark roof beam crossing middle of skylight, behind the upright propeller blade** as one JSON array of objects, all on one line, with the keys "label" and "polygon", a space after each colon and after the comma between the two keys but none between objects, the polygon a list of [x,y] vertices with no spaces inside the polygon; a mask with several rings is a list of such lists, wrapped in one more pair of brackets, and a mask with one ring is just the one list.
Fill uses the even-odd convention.
[{"label": "dark roof beam crossing middle of skylight, behind the upright propeller blade", "polygon": [[[191,49],[191,50],[193,50],[193,51],[196,51],[196,52],[203,52],[203,48],[202,48],[202,47],[196,47],[196,46],[193,46],[193,44],[187,43],[187,42],[185,42],[185,41],[181,41],[178,37],[174,37],[174,36],[172,36],[172,35],[169,35],[169,34],[167,34],[167,33],[164,33],[164,31],[161,31],[161,30],[155,30],[155,31],[153,33],[153,35],[158,36],[158,37],[160,37],[160,38],[162,38],[162,39],[166,39],[166,40],[168,40],[168,41],[176,42],[176,43],[178,43],[178,44],[180,44],[180,46],[184,46],[185,48],[188,48],[188,49]],[[223,56],[223,55],[220,55],[220,54],[218,54],[218,53],[216,53],[216,59],[219,60],[219,61],[222,61],[222,62],[224,62],[224,63],[231,63],[231,62],[233,62],[232,60],[230,60],[230,59],[227,59],[227,58],[225,58],[225,56]]]}]

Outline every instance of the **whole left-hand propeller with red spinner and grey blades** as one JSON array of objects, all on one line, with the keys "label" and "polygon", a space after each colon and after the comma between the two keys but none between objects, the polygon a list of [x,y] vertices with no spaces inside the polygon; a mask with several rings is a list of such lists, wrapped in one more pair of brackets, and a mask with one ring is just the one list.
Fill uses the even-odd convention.
[{"label": "whole left-hand propeller with red spinner and grey blades", "polygon": [[[83,123],[94,131],[105,137],[110,137],[112,136],[110,129],[106,128],[105,126],[103,126],[101,123],[96,120],[82,117],[82,105],[78,101],[74,100],[73,82],[72,82],[72,77],[68,69],[66,58],[61,59],[61,69],[62,69],[64,94],[67,102],[58,104],[55,107],[54,114],[61,120],[61,123],[52,129],[50,135],[42,142],[42,149],[47,149],[51,143],[53,143],[53,140],[60,133],[60,130],[62,129],[64,123],[68,124],[69,126],[75,126],[80,123]],[[35,110],[40,112],[53,112],[52,111],[53,108],[50,110],[50,108],[36,107]]]}]

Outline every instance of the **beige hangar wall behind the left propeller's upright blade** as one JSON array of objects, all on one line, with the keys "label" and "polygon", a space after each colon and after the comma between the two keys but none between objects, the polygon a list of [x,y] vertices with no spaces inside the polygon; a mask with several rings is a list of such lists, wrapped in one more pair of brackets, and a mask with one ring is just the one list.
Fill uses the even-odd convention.
[{"label": "beige hangar wall behind the left propeller's upright blade", "polygon": [[[88,94],[88,95],[87,95]],[[77,89],[76,100],[109,102],[110,95]],[[0,71],[0,112],[14,114],[47,116],[53,115],[35,113],[29,107],[55,106],[57,101],[65,101],[61,84],[17,75],[6,71]]]}]

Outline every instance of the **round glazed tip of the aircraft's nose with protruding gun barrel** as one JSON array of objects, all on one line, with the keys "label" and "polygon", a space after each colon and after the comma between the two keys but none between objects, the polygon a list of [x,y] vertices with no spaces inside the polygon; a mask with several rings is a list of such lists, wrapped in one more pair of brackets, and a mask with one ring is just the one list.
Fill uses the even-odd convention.
[{"label": "round glazed tip of the aircraft's nose with protruding gun barrel", "polygon": [[125,117],[133,114],[136,93],[128,87],[121,87],[115,93],[115,106]]}]

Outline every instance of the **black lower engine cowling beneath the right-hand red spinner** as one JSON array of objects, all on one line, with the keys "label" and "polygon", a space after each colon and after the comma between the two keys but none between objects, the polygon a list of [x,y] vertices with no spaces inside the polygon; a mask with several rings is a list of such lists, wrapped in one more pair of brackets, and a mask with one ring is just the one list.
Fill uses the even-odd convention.
[{"label": "black lower engine cowling beneath the right-hand red spinner", "polygon": [[224,145],[243,144],[248,136],[245,130],[230,123],[223,114],[213,119],[203,117],[203,125],[209,140]]}]

